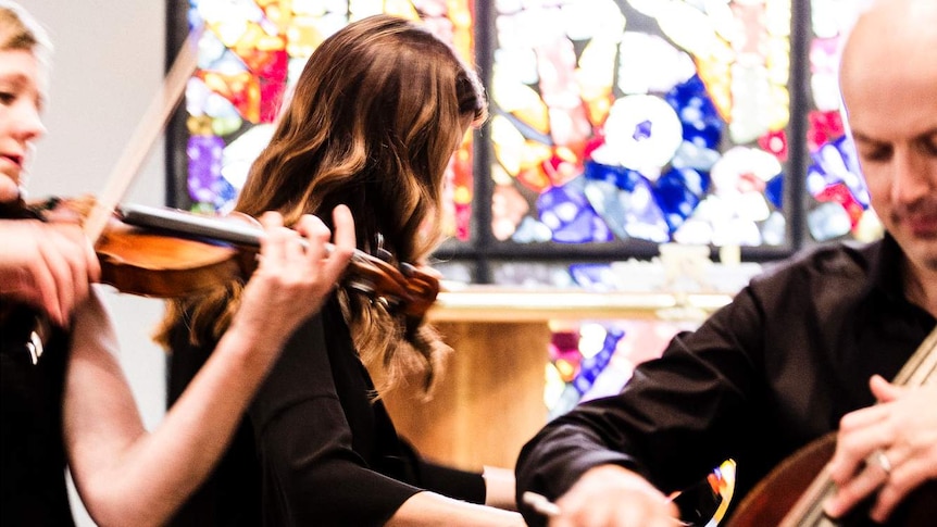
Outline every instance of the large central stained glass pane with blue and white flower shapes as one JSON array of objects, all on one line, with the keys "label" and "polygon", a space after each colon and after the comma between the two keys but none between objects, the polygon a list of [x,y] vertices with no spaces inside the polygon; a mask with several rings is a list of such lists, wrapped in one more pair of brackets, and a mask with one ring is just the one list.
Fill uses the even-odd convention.
[{"label": "large central stained glass pane with blue and white flower shapes", "polygon": [[789,0],[495,8],[496,239],[786,242]]}]

